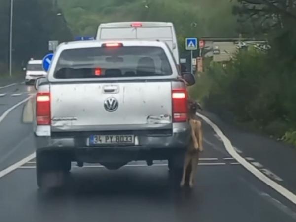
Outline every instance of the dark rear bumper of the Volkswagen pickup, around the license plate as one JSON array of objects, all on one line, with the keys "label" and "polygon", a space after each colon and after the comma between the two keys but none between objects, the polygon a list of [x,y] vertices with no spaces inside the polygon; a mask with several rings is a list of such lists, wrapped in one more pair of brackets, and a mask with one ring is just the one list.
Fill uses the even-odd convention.
[{"label": "dark rear bumper of the Volkswagen pickup, around the license plate", "polygon": [[185,152],[190,141],[190,127],[175,129],[170,136],[137,136],[139,145],[86,146],[85,137],[35,136],[37,151],[67,152],[72,161],[88,163],[132,160],[165,160],[176,153]]}]

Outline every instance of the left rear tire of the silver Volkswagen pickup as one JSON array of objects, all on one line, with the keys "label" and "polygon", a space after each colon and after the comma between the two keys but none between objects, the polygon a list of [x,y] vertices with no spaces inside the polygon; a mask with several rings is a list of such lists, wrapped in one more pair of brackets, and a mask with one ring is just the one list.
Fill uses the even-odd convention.
[{"label": "left rear tire of the silver Volkswagen pickup", "polygon": [[36,176],[39,188],[54,189],[62,187],[67,173],[71,169],[71,161],[59,152],[37,151]]}]

